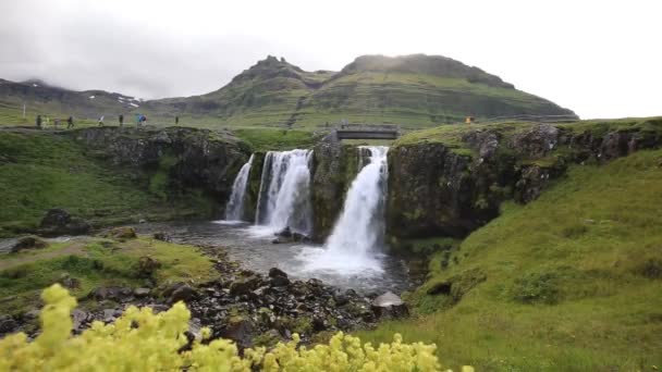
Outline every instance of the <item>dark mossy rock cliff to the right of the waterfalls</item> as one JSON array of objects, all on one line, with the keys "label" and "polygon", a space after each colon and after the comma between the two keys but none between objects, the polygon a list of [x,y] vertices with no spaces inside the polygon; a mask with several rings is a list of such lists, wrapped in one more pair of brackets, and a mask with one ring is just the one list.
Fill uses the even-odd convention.
[{"label": "dark mossy rock cliff to the right of the waterfalls", "polygon": [[[526,203],[571,163],[601,163],[662,145],[662,120],[585,125],[473,126],[402,138],[389,152],[387,232],[392,241],[463,237]],[[437,137],[434,137],[437,135]]]}]

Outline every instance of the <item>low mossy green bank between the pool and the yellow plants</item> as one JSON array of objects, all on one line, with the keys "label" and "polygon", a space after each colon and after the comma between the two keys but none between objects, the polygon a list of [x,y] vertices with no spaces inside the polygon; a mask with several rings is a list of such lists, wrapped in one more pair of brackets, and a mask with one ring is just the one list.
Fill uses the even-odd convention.
[{"label": "low mossy green bank between the pool and the yellow plants", "polygon": [[214,275],[209,259],[197,248],[150,238],[126,241],[85,238],[54,243],[40,250],[0,255],[0,312],[29,310],[38,305],[42,288],[75,278],[72,293],[84,298],[99,286],[144,285],[140,257],[150,257],[161,265],[151,275],[157,285],[180,281],[201,283]]}]

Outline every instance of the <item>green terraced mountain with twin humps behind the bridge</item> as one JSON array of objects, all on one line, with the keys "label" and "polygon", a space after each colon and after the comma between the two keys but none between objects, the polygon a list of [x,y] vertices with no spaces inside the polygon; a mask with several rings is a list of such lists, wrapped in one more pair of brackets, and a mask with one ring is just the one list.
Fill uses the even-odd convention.
[{"label": "green terraced mountain with twin humps behind the bridge", "polygon": [[363,55],[340,72],[306,72],[269,55],[216,91],[150,101],[100,90],[71,91],[35,82],[0,82],[0,108],[16,108],[24,101],[41,112],[72,112],[95,119],[139,111],[151,123],[172,123],[179,115],[187,125],[211,127],[309,128],[347,120],[416,128],[466,116],[574,116],[571,110],[517,90],[478,67],[425,54]]}]

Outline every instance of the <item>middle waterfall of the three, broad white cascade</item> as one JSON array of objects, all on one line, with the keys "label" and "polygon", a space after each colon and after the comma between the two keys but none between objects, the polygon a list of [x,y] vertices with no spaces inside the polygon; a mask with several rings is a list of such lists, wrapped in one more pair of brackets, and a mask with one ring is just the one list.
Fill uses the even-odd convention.
[{"label": "middle waterfall of the three, broad white cascade", "polygon": [[310,169],[312,151],[269,151],[265,158],[256,224],[273,232],[290,227],[310,235]]}]

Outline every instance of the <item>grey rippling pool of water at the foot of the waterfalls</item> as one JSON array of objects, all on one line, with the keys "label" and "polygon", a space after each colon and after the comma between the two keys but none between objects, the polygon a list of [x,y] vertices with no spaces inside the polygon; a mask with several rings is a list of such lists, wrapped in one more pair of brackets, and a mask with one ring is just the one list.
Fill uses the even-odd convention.
[{"label": "grey rippling pool of water at the foot of the waterfalls", "polygon": [[[240,261],[246,269],[267,273],[278,266],[291,277],[319,278],[341,288],[352,288],[359,293],[402,293],[412,289],[416,278],[409,275],[408,263],[400,258],[375,252],[371,259],[380,270],[309,270],[306,255],[323,250],[322,245],[296,243],[272,244],[274,236],[268,226],[254,226],[236,222],[168,222],[146,223],[136,226],[140,234],[168,233],[174,243],[209,244],[225,248],[231,259]],[[352,261],[344,261],[350,268]],[[338,262],[342,265],[343,262]]]}]

